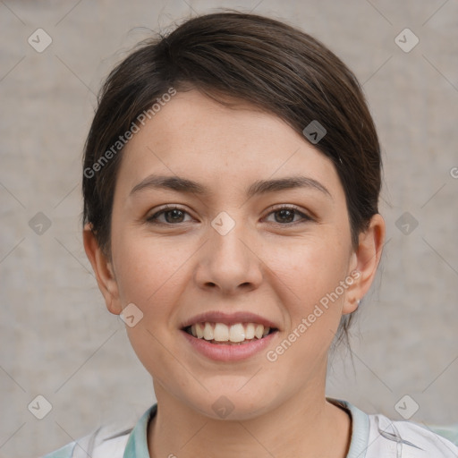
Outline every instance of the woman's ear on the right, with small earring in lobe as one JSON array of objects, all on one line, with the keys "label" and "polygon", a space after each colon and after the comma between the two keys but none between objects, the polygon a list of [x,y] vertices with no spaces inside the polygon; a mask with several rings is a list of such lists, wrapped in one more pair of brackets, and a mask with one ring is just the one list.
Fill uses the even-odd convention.
[{"label": "woman's ear on the right, with small earring in lobe", "polygon": [[358,309],[360,300],[368,293],[377,274],[384,241],[385,221],[377,213],[370,219],[368,229],[360,233],[358,248],[352,253],[349,277],[354,281],[346,291],[343,314]]}]

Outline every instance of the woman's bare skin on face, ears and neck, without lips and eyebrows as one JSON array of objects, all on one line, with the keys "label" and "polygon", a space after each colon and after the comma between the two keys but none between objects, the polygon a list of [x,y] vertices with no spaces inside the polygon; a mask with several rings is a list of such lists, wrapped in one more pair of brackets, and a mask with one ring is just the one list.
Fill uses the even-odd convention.
[{"label": "woman's bare skin on face, ears and neck, without lips and eyebrows", "polygon": [[[180,176],[208,192],[132,191],[151,174]],[[247,197],[253,182],[298,175],[320,186]],[[182,212],[148,221],[165,204]],[[284,206],[296,209],[284,216]],[[235,224],[224,235],[211,225],[221,212]],[[327,352],[342,315],[369,290],[384,237],[384,221],[375,215],[353,249],[335,166],[275,115],[247,104],[221,106],[196,90],[162,107],[123,151],[111,257],[89,226],[84,231],[107,309],[120,314],[134,303],[143,313],[127,332],[157,396],[150,456],[344,458],[351,420],[326,400]],[[344,293],[268,360],[267,351],[294,329],[297,336],[301,320],[349,276],[354,281]],[[212,360],[181,330],[185,320],[210,310],[248,310],[278,332],[246,360]],[[212,407],[221,396],[233,405],[225,419]]]}]

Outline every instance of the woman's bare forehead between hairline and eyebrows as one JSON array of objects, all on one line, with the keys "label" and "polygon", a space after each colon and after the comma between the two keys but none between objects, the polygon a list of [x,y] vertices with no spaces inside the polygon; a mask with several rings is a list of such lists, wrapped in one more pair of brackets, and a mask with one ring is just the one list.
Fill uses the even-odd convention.
[{"label": "woman's bare forehead between hairline and eyebrows", "polygon": [[306,174],[337,197],[343,192],[332,161],[278,116],[248,103],[222,106],[197,90],[178,92],[140,125],[123,150],[117,186],[128,193],[153,173],[189,177],[216,191]]}]

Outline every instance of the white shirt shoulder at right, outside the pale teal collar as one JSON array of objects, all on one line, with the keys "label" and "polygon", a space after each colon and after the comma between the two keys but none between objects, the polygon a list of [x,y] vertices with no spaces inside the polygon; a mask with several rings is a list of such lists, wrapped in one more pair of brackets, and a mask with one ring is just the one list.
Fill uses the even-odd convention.
[{"label": "white shirt shoulder at right, outside the pale teal collar", "polygon": [[368,415],[368,417],[367,458],[391,456],[391,454],[410,458],[458,457],[458,446],[425,426],[411,421],[390,420],[382,414]]}]

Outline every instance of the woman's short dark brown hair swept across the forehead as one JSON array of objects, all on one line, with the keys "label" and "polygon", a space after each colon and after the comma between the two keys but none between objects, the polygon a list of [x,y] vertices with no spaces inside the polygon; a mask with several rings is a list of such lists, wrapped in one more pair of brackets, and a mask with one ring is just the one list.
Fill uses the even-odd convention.
[{"label": "woman's short dark brown hair swept across the forehead", "polygon": [[[281,21],[230,12],[195,17],[142,42],[107,77],[85,145],[82,181],[83,222],[91,224],[107,255],[122,150],[95,165],[172,87],[199,89],[221,103],[221,96],[248,101],[301,134],[313,121],[324,126],[327,133],[314,146],[335,165],[357,247],[359,233],[378,212],[382,166],[359,82],[316,38]],[[339,336],[351,320],[342,318]]]}]

